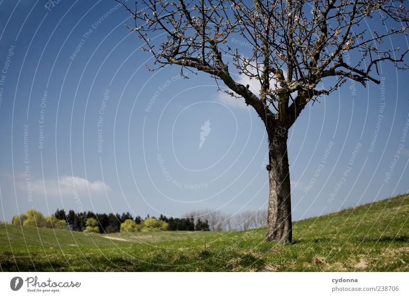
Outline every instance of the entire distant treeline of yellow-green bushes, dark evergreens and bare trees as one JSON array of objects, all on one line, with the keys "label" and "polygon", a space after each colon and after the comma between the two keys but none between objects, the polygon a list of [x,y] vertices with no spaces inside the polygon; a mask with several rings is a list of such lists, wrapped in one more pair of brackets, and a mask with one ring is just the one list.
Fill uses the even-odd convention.
[{"label": "entire distant treeline of yellow-green bushes, dark evergreens and bare trees", "polygon": [[13,217],[12,224],[19,226],[69,229],[86,233],[115,233],[137,231],[241,231],[265,226],[266,210],[244,211],[234,215],[218,210],[193,211],[182,218],[133,217],[129,212],[113,213],[75,212],[63,209],[47,217],[34,209]]}]

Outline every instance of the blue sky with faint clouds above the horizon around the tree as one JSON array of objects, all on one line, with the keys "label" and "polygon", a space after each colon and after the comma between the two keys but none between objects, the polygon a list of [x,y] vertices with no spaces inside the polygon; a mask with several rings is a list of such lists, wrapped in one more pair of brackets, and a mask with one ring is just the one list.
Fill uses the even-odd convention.
[{"label": "blue sky with faint clouds above the horizon around the tree", "polygon": [[[32,207],[141,216],[266,208],[267,143],[251,108],[206,73],[148,72],[151,56],[116,2],[44,3],[0,2],[0,219]],[[409,73],[381,72],[382,86],[347,82],[291,128],[294,219],[408,191]]]}]

